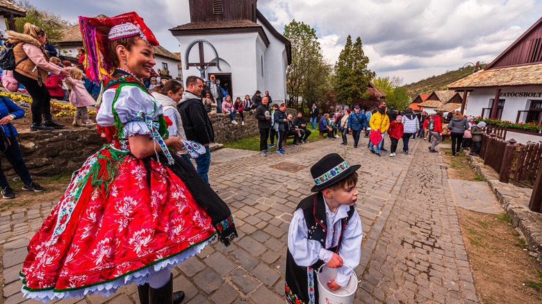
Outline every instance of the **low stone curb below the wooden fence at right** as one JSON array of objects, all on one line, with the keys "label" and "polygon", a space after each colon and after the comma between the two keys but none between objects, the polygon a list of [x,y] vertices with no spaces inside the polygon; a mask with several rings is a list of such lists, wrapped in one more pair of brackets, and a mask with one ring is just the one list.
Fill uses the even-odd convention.
[{"label": "low stone curb below the wooden fence at right", "polygon": [[525,237],[529,254],[536,257],[539,260],[539,266],[542,267],[542,214],[529,210],[532,189],[518,187],[511,183],[501,183],[499,174],[491,167],[484,165],[484,160],[465,154],[478,174],[487,180],[502,208],[508,212],[512,226],[518,228]]}]

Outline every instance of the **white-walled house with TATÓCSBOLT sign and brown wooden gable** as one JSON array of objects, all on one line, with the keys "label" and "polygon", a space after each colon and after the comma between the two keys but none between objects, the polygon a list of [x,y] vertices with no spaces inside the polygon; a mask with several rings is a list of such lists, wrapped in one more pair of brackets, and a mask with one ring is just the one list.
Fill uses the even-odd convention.
[{"label": "white-walled house with TAT\u00d3CSBOLT sign and brown wooden gable", "polygon": [[[469,94],[466,114],[542,123],[542,18],[486,69],[448,85]],[[463,103],[464,104],[464,103]]]}]

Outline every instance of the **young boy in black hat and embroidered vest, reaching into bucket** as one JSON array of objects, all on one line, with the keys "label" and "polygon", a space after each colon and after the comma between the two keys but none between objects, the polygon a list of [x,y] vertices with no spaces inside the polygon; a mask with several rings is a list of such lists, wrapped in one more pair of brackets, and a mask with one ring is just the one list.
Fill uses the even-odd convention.
[{"label": "young boy in black hat and embroidered vest, reaching into bucket", "polygon": [[311,167],[317,192],[303,199],[293,214],[288,230],[286,255],[286,303],[318,303],[317,271],[322,264],[338,268],[332,291],[348,284],[350,270],[361,257],[361,219],[356,212],[358,196],[356,170],[337,153],[331,153]]}]

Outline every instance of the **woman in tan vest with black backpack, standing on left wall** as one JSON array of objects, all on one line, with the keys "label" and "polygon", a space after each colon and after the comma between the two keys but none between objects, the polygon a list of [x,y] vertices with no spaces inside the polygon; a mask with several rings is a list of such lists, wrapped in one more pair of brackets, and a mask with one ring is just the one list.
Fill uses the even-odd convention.
[{"label": "woman in tan vest with black backpack, standing on left wall", "polygon": [[[31,131],[53,130],[64,128],[63,124],[57,124],[51,118],[51,94],[44,85],[47,74],[62,74],[68,76],[68,69],[61,69],[49,62],[47,51],[43,49],[47,35],[42,28],[30,23],[24,24],[24,33],[6,31],[8,40],[13,47],[15,62],[19,62],[13,71],[13,78],[24,85],[26,91],[32,97],[32,124]],[[28,59],[24,59],[28,56]],[[42,120],[43,115],[43,120]]]}]

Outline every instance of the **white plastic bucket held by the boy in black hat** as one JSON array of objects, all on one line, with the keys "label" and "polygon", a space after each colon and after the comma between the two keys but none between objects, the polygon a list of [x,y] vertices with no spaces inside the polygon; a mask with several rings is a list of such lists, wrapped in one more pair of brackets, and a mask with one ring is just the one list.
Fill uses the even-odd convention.
[{"label": "white plastic bucket held by the boy in black hat", "polygon": [[318,269],[318,293],[320,294],[320,304],[351,304],[354,303],[354,294],[358,288],[358,278],[356,273],[346,265],[343,265],[347,269],[350,269],[350,280],[345,287],[338,289],[335,292],[331,292],[327,287],[327,282],[334,280],[337,276],[337,268],[329,268],[326,264],[323,264]]}]

